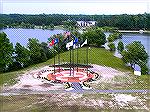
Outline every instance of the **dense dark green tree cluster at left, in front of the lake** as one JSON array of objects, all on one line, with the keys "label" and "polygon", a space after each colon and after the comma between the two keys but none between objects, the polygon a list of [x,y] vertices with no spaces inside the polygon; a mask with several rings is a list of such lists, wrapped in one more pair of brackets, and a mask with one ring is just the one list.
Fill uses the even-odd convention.
[{"label": "dense dark green tree cluster at left, in front of the lake", "polygon": [[28,67],[33,64],[45,62],[54,57],[55,49],[50,49],[48,43],[40,43],[36,38],[29,38],[27,47],[20,43],[10,43],[3,32],[0,33],[0,72],[9,72]]}]

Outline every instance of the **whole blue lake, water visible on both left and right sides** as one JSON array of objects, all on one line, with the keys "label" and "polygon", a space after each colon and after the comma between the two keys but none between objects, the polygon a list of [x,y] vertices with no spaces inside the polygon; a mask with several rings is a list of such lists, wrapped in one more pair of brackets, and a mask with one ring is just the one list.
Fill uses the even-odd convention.
[{"label": "whole blue lake, water visible on both left and right sides", "polygon": [[[54,34],[63,33],[63,30],[42,30],[42,29],[3,29],[0,32],[5,32],[10,39],[10,42],[15,45],[17,42],[21,43],[21,45],[26,46],[29,38],[37,38],[40,42],[47,42],[48,38]],[[110,33],[105,33],[106,37],[109,36]],[[150,34],[140,34],[140,33],[123,33],[122,42],[124,45],[130,44],[133,41],[140,41],[147,53],[150,56]],[[114,43],[117,46],[119,39]],[[115,55],[118,53],[116,52]],[[149,59],[150,66],[150,59]]]}]

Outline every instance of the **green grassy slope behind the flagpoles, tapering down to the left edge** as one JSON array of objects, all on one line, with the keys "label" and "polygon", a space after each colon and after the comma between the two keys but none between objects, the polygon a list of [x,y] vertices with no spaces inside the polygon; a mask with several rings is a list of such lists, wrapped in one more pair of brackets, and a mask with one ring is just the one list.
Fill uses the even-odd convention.
[{"label": "green grassy slope behind the flagpoles, tapering down to the left edge", "polygon": [[[70,52],[65,52],[60,54],[60,62],[69,62],[70,61]],[[86,64],[86,48],[80,48],[78,50],[78,62],[82,64]],[[74,50],[74,62],[77,62],[77,50]],[[58,63],[58,55],[55,57],[56,63]],[[16,78],[19,74],[26,73],[29,70],[32,69],[38,69],[39,67],[51,65],[54,62],[54,58],[40,64],[31,65],[30,67],[27,67],[25,69],[15,71],[15,72],[9,72],[9,73],[3,73],[0,74],[0,85],[3,85],[4,83],[13,84],[15,83],[14,78]],[[91,48],[89,50],[89,63],[91,64],[98,64],[102,66],[108,66],[112,67],[121,71],[131,71],[129,67],[126,67],[123,63],[123,61],[115,56],[113,56],[113,53],[110,51],[107,51],[103,48]]]}]

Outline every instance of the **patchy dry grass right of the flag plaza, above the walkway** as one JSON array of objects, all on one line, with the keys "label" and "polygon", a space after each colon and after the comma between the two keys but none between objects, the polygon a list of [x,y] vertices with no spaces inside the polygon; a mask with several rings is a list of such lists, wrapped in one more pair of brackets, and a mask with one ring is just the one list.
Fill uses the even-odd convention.
[{"label": "patchy dry grass right of the flag plaza, above the walkway", "polygon": [[100,82],[99,84],[91,84],[95,89],[103,90],[149,90],[150,75],[142,75],[140,77],[133,74],[126,76],[115,76],[111,82]]}]

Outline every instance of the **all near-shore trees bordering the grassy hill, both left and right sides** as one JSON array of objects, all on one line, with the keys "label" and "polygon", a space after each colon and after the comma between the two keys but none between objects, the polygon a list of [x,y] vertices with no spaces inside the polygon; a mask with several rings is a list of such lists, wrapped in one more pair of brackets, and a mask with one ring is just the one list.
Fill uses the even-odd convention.
[{"label": "all near-shore trees bordering the grassy hill, both left and right sides", "polygon": [[[79,44],[82,44],[85,39],[88,39],[88,46],[102,47],[102,45],[107,42],[106,36],[101,28],[87,29],[83,34],[78,31],[72,31],[71,34],[78,38]],[[108,45],[110,51],[116,50],[113,41],[118,37],[120,38],[120,35],[118,32],[114,32],[110,35],[110,38],[113,38]],[[15,47],[13,47],[7,35],[0,33],[0,72],[14,71],[33,64],[45,62],[55,55],[67,51],[66,43],[70,42],[74,37],[68,36],[66,38],[63,34],[57,34],[53,35],[50,41],[55,38],[59,38],[60,44],[52,48],[48,47],[48,43],[40,43],[39,40],[35,38],[28,39],[27,47],[22,46],[20,43],[16,43]],[[142,74],[148,73],[147,62],[149,56],[141,42],[134,41],[124,46],[120,41],[117,50],[122,55],[122,60],[126,64],[129,63],[131,67],[138,64],[142,69]]]}]

